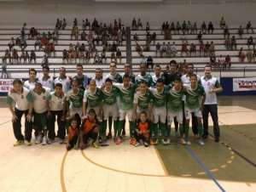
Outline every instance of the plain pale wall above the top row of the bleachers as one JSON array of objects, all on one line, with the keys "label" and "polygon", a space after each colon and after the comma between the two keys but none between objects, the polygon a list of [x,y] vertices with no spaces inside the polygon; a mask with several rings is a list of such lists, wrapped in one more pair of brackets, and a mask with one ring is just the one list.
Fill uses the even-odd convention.
[{"label": "plain pale wall above the top row of the bleachers", "polygon": [[[39,1],[38,1],[39,2]],[[55,25],[56,18],[67,20],[67,25],[73,24],[76,17],[81,25],[82,20],[96,18],[109,25],[114,19],[121,18],[122,23],[131,25],[131,20],[140,18],[143,25],[149,21],[151,26],[160,26],[163,21],[182,22],[190,20],[201,25],[205,20],[211,20],[218,25],[224,16],[227,25],[243,25],[250,20],[256,27],[256,3],[232,3],[219,5],[163,5],[145,3],[102,4],[102,5],[27,5],[27,4],[0,4],[2,18],[0,25]]]}]

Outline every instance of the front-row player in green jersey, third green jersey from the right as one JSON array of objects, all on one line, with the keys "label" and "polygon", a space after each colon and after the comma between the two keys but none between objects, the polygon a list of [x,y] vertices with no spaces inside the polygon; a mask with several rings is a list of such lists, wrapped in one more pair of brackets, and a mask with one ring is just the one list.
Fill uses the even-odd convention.
[{"label": "front-row player in green jersey, third green jersey from the right", "polygon": [[166,135],[166,99],[167,93],[172,88],[171,85],[164,85],[164,81],[159,78],[156,81],[156,88],[149,88],[153,94],[152,111],[154,117],[154,144],[159,144],[158,140],[158,123],[162,132],[161,144],[167,144],[164,137]]}]

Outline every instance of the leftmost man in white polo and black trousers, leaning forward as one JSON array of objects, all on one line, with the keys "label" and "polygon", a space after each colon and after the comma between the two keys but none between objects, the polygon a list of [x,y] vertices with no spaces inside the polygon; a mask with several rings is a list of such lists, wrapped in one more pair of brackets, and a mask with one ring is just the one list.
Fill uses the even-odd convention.
[{"label": "leftmost man in white polo and black trousers, leaning forward", "polygon": [[[27,88],[22,88],[22,82],[20,79],[15,79],[13,82],[14,92],[9,91],[6,98],[6,103],[9,106],[9,110],[12,113],[12,122],[15,138],[17,141],[14,146],[24,144],[24,136],[21,133],[21,117],[25,116],[25,140],[26,145],[32,145],[32,109],[33,109],[33,98],[32,93]],[[12,103],[15,100],[15,110],[13,109]]]}]

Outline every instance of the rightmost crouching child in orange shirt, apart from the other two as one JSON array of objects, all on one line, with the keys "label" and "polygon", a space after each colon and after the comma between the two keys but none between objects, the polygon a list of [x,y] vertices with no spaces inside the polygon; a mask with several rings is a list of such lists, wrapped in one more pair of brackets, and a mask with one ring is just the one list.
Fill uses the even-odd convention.
[{"label": "rightmost crouching child in orange shirt, apart from the other two", "polygon": [[137,143],[135,146],[139,146],[140,144],[140,139],[143,139],[143,144],[145,147],[148,147],[149,143],[149,125],[148,121],[146,121],[147,118],[147,113],[145,111],[141,112],[141,117],[140,121],[137,124],[137,128],[135,129],[134,132],[134,137],[137,140]]}]

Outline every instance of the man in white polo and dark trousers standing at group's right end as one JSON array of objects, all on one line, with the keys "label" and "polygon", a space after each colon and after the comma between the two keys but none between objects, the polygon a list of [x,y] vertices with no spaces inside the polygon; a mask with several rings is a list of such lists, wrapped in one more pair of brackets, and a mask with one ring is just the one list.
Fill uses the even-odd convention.
[{"label": "man in white polo and dark trousers standing at group's right end", "polygon": [[216,93],[222,92],[222,88],[218,79],[211,75],[211,66],[205,66],[205,76],[201,76],[201,85],[204,87],[207,99],[203,107],[203,135],[202,138],[208,138],[208,115],[209,112],[213,121],[213,133],[215,142],[219,141],[219,127],[218,127],[218,107]]}]

